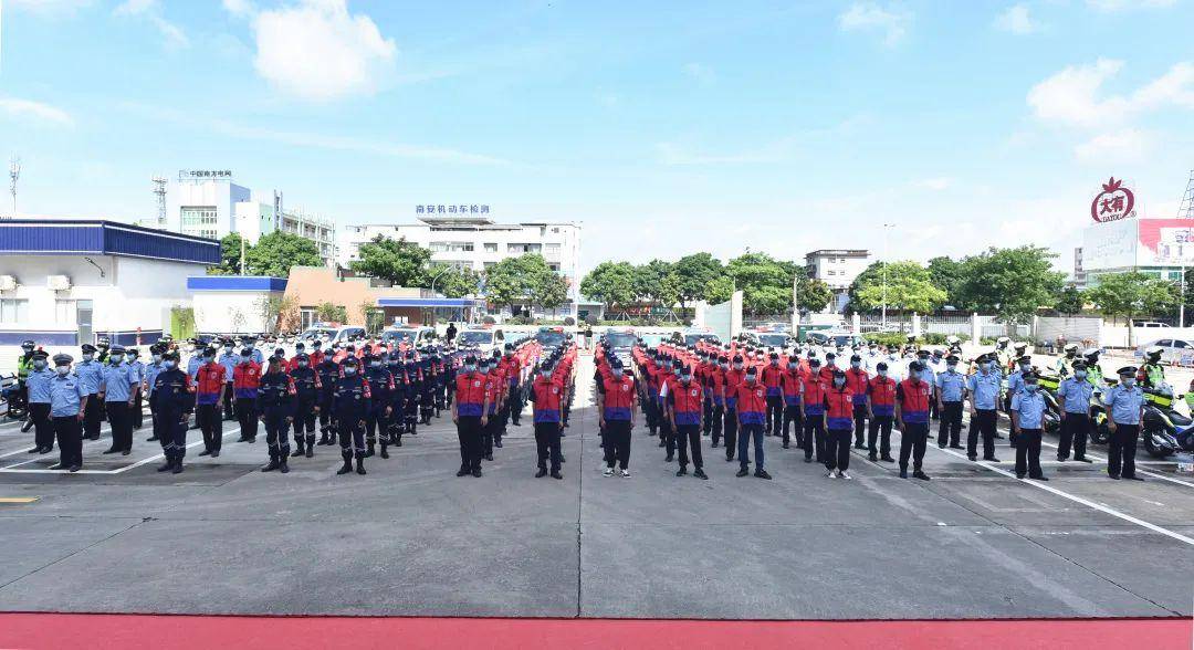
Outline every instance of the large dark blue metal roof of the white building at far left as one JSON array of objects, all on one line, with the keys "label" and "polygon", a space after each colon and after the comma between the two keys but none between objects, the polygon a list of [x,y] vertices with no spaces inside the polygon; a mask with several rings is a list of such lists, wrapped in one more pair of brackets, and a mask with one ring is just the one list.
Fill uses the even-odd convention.
[{"label": "large dark blue metal roof of the white building at far left", "polygon": [[219,264],[220,243],[115,221],[0,221],[0,255],[112,255]]}]

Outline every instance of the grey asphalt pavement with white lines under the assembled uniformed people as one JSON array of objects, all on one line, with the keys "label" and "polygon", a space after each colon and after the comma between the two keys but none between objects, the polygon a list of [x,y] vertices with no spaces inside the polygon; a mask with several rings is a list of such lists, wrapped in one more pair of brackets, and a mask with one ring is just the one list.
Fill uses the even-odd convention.
[{"label": "grey asphalt pavement with white lines under the assembled uniformed people", "polygon": [[[855,452],[827,479],[767,439],[775,477],[736,478],[703,439],[704,482],[673,476],[633,435],[632,478],[601,474],[587,357],[564,439],[564,480],[534,478],[530,410],[481,478],[456,478],[448,417],[369,474],[336,476],[333,447],[260,473],[264,436],[154,470],[86,442],[67,476],[0,424],[0,611],[202,614],[958,619],[1190,615],[1194,477],[1145,460],[1144,483],[1102,464],[1015,479],[930,444],[930,482]],[[1005,429],[1005,423],[1001,424]],[[893,434],[898,449],[898,433]],[[1053,441],[1055,442],[1055,441]],[[1102,448],[1094,455],[1103,458]],[[35,501],[29,501],[35,499]]]}]

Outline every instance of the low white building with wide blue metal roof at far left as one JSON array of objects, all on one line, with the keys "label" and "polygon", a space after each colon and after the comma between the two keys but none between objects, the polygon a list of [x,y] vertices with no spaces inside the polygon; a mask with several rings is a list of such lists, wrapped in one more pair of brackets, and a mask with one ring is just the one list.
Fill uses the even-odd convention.
[{"label": "low white building with wide blue metal roof at far left", "polygon": [[112,221],[0,221],[0,345],[149,344],[220,243]]}]

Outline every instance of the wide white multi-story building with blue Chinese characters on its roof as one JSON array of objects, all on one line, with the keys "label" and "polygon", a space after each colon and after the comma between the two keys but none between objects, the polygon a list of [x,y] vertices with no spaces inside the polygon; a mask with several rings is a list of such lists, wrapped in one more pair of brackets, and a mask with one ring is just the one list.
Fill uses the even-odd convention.
[{"label": "wide white multi-story building with blue Chinese characters on its roof", "polygon": [[[463,206],[462,206],[463,207]],[[576,301],[580,284],[580,225],[573,222],[497,223],[479,214],[420,216],[418,223],[345,226],[340,264],[359,259],[361,245],[377,235],[402,239],[431,250],[433,264],[484,271],[509,257],[538,253],[568,282]]]}]

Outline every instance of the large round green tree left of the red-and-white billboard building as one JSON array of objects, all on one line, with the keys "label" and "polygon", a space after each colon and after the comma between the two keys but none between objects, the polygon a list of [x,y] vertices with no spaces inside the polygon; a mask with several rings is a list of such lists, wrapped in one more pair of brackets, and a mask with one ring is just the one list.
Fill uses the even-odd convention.
[{"label": "large round green tree left of the red-and-white billboard building", "polygon": [[1065,283],[1053,270],[1057,255],[1041,246],[989,249],[961,264],[961,301],[967,308],[990,312],[1004,323],[1024,323],[1036,309],[1052,305]]}]

